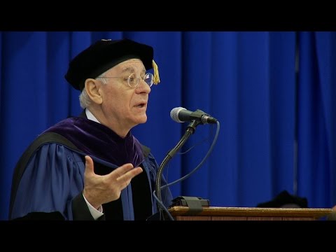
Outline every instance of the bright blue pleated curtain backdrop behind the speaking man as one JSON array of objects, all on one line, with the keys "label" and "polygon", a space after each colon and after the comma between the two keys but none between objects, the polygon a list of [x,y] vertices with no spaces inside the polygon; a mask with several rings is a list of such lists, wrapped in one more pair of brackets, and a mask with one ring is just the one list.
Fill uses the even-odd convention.
[{"label": "bright blue pleated curtain backdrop behind the speaking man", "polygon": [[[161,83],[152,88],[148,122],[133,134],[158,163],[188,123],[177,106],[221,123],[209,159],[172,186],[174,197],[211,206],[255,207],[282,190],[309,207],[336,204],[336,33],[113,31],[0,32],[0,219],[8,218],[15,163],[43,130],[81,109],[66,83],[69,60],[101,38],[153,45]],[[200,125],[164,174],[169,182],[206,155],[216,125]]]}]

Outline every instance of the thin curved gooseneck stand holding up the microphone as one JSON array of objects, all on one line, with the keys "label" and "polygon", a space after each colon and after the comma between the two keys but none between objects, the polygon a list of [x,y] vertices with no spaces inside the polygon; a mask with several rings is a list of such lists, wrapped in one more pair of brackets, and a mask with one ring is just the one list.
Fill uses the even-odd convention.
[{"label": "thin curved gooseneck stand holding up the microphone", "polygon": [[[186,141],[190,137],[191,134],[194,134],[196,127],[198,125],[202,124],[202,120],[193,120],[187,127],[186,133],[183,135],[183,137],[180,139],[179,143],[176,144],[174,148],[172,148],[171,151],[166,155],[164,160],[162,161],[158,172],[156,174],[156,181],[155,181],[155,188],[156,188],[156,196],[158,197],[158,200],[162,202],[162,197],[161,197],[161,177],[162,177],[162,172],[165,166],[168,164],[168,162],[176,155],[176,153],[180,150],[180,148],[186,144]],[[162,207],[160,204],[158,204],[158,211],[162,211]]]}]

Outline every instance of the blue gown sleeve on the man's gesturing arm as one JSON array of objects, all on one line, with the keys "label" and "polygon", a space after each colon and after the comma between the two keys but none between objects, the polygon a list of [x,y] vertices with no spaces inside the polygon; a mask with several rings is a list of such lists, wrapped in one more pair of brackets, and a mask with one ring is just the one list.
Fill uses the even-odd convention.
[{"label": "blue gown sleeve on the man's gesturing arm", "polygon": [[84,171],[83,155],[60,144],[41,146],[18,183],[10,219],[93,220],[83,198]]}]

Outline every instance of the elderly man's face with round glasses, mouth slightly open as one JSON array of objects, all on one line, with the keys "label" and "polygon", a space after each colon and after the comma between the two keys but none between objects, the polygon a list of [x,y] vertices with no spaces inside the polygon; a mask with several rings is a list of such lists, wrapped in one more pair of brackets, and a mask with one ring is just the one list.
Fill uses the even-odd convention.
[{"label": "elderly man's face with round glasses, mouth slightly open", "polygon": [[[140,78],[137,87],[130,87],[127,78],[132,73]],[[130,130],[139,123],[147,121],[147,102],[151,87],[143,80],[146,73],[140,59],[128,59],[113,66],[106,72],[106,85],[102,85],[102,111],[108,126],[113,125],[118,130]],[[119,78],[120,77],[120,78]]]}]

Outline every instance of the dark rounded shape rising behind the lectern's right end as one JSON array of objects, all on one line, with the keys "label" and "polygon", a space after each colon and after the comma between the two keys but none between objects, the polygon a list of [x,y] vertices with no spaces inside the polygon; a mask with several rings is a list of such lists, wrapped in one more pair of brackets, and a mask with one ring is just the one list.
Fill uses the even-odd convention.
[{"label": "dark rounded shape rising behind the lectern's right end", "polygon": [[259,203],[257,207],[274,207],[274,208],[307,208],[308,202],[305,197],[290,195],[283,190],[279,195],[269,202]]}]

